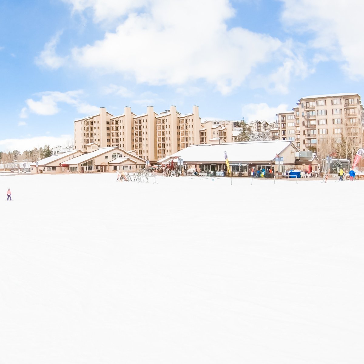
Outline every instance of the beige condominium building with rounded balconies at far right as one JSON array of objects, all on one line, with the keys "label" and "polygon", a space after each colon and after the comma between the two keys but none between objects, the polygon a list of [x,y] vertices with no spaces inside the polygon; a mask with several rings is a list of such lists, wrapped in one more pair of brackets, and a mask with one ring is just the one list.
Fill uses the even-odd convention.
[{"label": "beige condominium building with rounded balconies at far right", "polygon": [[359,94],[306,96],[297,105],[276,115],[281,140],[294,141],[301,151],[319,151],[325,143],[337,145],[346,136],[359,146],[363,110]]}]

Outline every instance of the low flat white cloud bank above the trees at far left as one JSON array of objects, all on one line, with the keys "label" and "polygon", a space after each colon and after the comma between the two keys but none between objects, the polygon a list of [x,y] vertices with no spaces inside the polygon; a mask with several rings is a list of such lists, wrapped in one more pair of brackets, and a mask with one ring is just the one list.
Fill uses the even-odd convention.
[{"label": "low flat white cloud bank above the trees at far left", "polygon": [[67,141],[73,140],[73,135],[60,135],[60,137],[40,136],[23,139],[3,139],[0,140],[0,150],[29,150],[34,147],[44,146],[49,144],[51,147],[55,145],[66,145]]}]

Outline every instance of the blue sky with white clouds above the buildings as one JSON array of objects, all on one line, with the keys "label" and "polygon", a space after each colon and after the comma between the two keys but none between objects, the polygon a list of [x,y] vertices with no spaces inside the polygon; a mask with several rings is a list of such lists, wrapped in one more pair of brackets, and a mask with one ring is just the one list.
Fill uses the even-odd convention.
[{"label": "blue sky with white clouds above the buildings", "polygon": [[[362,92],[362,1],[0,3],[0,150],[64,145],[73,120],[197,104],[274,120],[299,98]],[[354,10],[355,9],[355,10]],[[347,19],[350,19],[348,22]]]}]

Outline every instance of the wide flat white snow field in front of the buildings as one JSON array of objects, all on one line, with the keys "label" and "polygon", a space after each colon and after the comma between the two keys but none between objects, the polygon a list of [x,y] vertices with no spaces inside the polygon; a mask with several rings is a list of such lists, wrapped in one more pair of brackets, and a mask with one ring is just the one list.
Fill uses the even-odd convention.
[{"label": "wide flat white snow field in front of the buildings", "polygon": [[364,182],[157,182],[0,174],[0,363],[364,362]]}]

